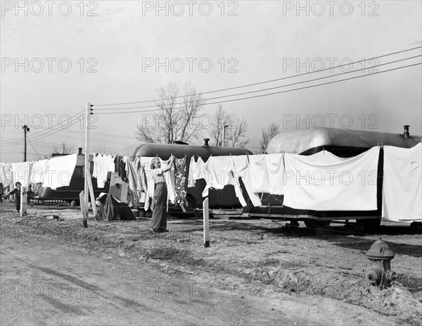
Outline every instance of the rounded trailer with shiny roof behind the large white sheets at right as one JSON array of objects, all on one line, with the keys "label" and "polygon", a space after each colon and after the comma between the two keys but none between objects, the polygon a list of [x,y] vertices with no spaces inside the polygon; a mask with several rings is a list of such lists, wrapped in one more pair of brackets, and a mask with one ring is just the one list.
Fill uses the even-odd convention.
[{"label": "rounded trailer with shiny roof behind the large white sheets at right", "polygon": [[[267,153],[295,153],[309,156],[319,151],[330,151],[336,156],[349,158],[373,146],[390,145],[411,148],[421,142],[421,136],[409,134],[409,125],[403,134],[344,130],[335,128],[297,129],[283,131],[271,139]],[[307,227],[321,227],[330,222],[356,220],[366,231],[376,229],[381,223],[383,189],[383,149],[378,158],[376,211],[309,211],[283,206],[283,196],[262,194],[262,206],[254,207],[250,217],[291,220],[293,225],[302,220]]]}]

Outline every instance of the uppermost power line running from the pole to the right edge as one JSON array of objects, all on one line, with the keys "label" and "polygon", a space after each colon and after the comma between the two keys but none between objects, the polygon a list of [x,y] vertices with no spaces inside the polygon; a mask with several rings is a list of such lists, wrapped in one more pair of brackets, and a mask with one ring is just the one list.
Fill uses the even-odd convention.
[{"label": "uppermost power line running from the pole to the right edge", "polygon": [[[362,63],[362,62],[365,62],[365,61],[370,61],[370,60],[374,60],[374,59],[378,59],[378,58],[384,58],[385,56],[392,56],[392,55],[395,55],[395,54],[401,54],[401,53],[404,53],[404,52],[407,52],[407,51],[412,51],[412,50],[421,49],[421,48],[422,48],[422,46],[416,46],[416,47],[411,48],[411,49],[406,49],[406,50],[402,50],[402,51],[396,51],[396,52],[392,52],[390,54],[383,54],[382,56],[375,56],[373,58],[362,59],[362,60],[359,60],[359,61],[354,61],[352,63],[345,63],[343,65],[336,65],[335,67],[330,67],[330,68],[321,69],[321,70],[315,70],[315,71],[311,71],[311,72],[308,72],[308,73],[302,73],[302,74],[288,76],[288,77],[283,77],[283,78],[276,78],[274,80],[266,80],[264,82],[255,82],[255,83],[252,83],[252,84],[244,84],[244,85],[236,86],[236,87],[229,87],[229,88],[224,88],[224,89],[216,89],[214,91],[209,91],[209,92],[201,92],[201,93],[198,93],[198,95],[204,95],[204,94],[211,94],[211,93],[216,93],[216,92],[229,91],[229,90],[232,90],[232,89],[239,89],[239,88],[243,88],[243,87],[251,87],[251,86],[256,86],[256,85],[260,85],[260,84],[267,84],[269,82],[278,82],[280,80],[286,80],[286,79],[289,79],[289,78],[300,77],[300,76],[304,76],[304,75],[310,75],[312,73],[321,73],[321,72],[326,71],[326,70],[331,70],[331,69],[335,69],[335,68],[341,68],[341,67],[344,67],[345,65],[353,65],[355,63]],[[183,97],[184,96],[176,96],[174,99],[180,99],[180,98],[183,98]],[[138,103],[148,103],[148,102],[156,102],[156,101],[165,101],[165,100],[168,100],[168,99],[154,99],[154,100],[148,100],[148,101],[136,101],[136,102],[126,102],[126,103],[115,103],[115,104],[95,104],[94,107],[95,106],[116,106],[116,105],[138,104]],[[124,108],[122,108],[122,109],[124,109]]]}]

